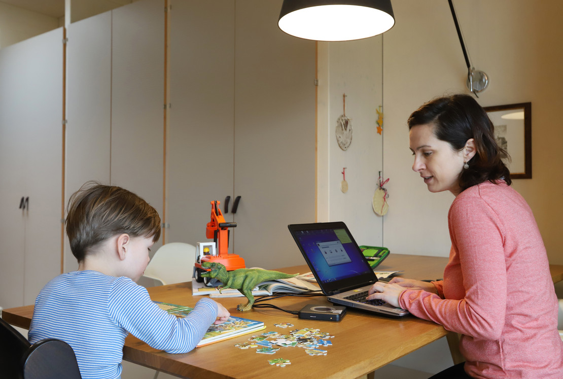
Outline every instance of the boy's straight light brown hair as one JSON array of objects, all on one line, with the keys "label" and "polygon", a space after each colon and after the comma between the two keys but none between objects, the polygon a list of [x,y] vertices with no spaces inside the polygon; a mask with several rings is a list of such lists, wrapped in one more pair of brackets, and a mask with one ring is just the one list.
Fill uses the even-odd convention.
[{"label": "boy's straight light brown hair", "polygon": [[115,235],[160,238],[160,216],[136,194],[118,186],[86,182],[69,199],[66,235],[82,262],[91,249]]}]

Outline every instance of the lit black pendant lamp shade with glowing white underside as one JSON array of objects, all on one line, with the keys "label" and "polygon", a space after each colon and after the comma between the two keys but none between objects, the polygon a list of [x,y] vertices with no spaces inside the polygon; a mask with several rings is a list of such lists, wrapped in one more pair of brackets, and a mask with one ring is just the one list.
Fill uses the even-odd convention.
[{"label": "lit black pendant lamp shade with glowing white underside", "polygon": [[350,41],[395,25],[391,0],[284,0],[278,26],[295,37]]}]

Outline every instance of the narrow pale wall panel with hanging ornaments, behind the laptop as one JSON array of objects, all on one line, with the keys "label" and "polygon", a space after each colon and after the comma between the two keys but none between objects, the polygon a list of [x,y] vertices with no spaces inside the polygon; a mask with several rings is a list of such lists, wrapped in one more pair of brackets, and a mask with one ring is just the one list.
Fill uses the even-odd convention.
[{"label": "narrow pale wall panel with hanging ornaments, behind the laptop", "polygon": [[[318,43],[317,221],[344,221],[356,242],[370,246],[380,246],[383,238],[383,217],[372,208],[383,170],[383,135],[377,133],[377,109],[383,105],[381,56],[381,35]],[[347,150],[336,140],[343,95],[352,127]],[[346,193],[341,190],[343,171]]]}]

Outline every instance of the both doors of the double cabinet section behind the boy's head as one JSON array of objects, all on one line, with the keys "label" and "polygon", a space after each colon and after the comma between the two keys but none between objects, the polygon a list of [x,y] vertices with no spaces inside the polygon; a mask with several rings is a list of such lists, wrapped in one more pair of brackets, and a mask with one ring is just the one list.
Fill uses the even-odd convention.
[{"label": "both doors of the double cabinet section behind the boy's head", "polygon": [[[96,180],[133,191],[162,215],[164,2],[70,24],[68,39],[65,200]],[[65,238],[65,271],[76,268]]]}]

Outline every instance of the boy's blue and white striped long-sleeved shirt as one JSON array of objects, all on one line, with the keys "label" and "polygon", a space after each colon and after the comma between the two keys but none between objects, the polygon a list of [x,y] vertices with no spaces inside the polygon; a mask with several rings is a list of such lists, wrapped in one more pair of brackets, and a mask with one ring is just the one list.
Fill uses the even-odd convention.
[{"label": "boy's blue and white striped long-sleeved shirt", "polygon": [[67,342],[84,379],[119,378],[128,333],[155,349],[186,353],[216,317],[217,304],[209,298],[180,319],[160,309],[146,289],[129,278],[74,271],[51,280],[39,293],[29,340]]}]

